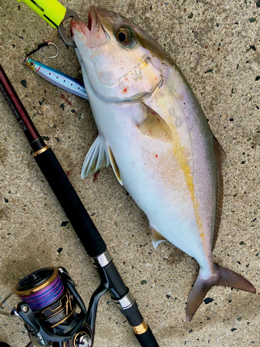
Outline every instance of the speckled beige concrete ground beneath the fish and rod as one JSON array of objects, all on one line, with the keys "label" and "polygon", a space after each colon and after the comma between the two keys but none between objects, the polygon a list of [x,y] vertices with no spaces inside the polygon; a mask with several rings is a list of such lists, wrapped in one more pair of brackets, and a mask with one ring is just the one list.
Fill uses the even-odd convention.
[{"label": "speckled beige concrete ground beneath the fish and rod", "polygon": [[[58,58],[47,58],[53,53],[51,47],[32,58],[81,78],[76,54],[24,3],[0,0],[0,63],[46,144],[69,173],[162,347],[260,346],[260,8],[256,1],[61,1],[85,20],[89,4],[119,12],[165,46],[227,153],[223,218],[214,259],[248,278],[257,295],[214,287],[207,294],[211,300],[202,303],[188,323],[185,306],[198,264],[172,244],[153,249],[146,216],[119,185],[111,167],[102,169],[97,180],[93,175],[80,179],[83,160],[97,135],[89,103],[21,64],[24,54],[52,37],[60,49]],[[62,226],[67,217],[2,96],[0,119],[0,294],[6,296],[31,271],[62,265],[87,305],[98,285],[96,271],[70,223]],[[28,343],[20,319],[0,315],[0,341],[12,347]],[[98,305],[94,346],[139,346],[108,295]]]}]

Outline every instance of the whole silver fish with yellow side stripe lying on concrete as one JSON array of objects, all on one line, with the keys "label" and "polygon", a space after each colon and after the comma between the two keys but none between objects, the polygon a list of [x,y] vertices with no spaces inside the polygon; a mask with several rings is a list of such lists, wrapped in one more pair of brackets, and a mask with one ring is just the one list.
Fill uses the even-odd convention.
[{"label": "whole silver fish with yellow side stripe lying on concrete", "polygon": [[71,35],[98,128],[82,178],[111,164],[148,217],[153,246],[167,240],[196,259],[188,321],[214,285],[255,293],[213,260],[227,157],[171,56],[130,19],[94,6],[88,26],[71,20]]}]

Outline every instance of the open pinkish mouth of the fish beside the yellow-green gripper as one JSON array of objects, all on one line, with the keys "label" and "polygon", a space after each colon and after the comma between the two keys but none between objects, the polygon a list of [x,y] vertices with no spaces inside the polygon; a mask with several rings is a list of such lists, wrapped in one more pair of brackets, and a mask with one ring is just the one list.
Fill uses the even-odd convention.
[{"label": "open pinkish mouth of the fish beside the yellow-green gripper", "polygon": [[105,44],[107,42],[107,35],[100,19],[98,18],[97,9],[94,6],[89,6],[88,26],[77,17],[73,17],[71,19],[71,37],[76,44],[77,33],[81,33],[80,39],[85,41],[85,44],[90,49],[101,46],[101,44]]}]

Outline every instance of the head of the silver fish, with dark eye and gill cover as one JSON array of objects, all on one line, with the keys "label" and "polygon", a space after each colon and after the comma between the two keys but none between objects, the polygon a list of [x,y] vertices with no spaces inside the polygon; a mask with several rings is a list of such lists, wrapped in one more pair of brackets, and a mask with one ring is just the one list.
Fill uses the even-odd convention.
[{"label": "head of the silver fish, with dark eye and gill cover", "polygon": [[162,83],[159,45],[130,19],[90,6],[88,26],[73,18],[71,36],[88,93],[92,88],[105,101],[131,101]]}]

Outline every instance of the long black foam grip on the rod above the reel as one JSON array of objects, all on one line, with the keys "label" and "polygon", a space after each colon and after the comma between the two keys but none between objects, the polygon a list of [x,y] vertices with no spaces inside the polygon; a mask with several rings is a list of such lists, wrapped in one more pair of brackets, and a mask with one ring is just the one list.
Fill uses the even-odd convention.
[{"label": "long black foam grip on the rod above the reel", "polygon": [[36,155],[35,160],[48,181],[60,205],[67,214],[71,225],[76,231],[81,243],[90,257],[96,257],[105,252],[106,246],[87,210],[72,187],[60,162],[52,149]]}]

